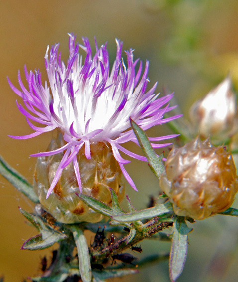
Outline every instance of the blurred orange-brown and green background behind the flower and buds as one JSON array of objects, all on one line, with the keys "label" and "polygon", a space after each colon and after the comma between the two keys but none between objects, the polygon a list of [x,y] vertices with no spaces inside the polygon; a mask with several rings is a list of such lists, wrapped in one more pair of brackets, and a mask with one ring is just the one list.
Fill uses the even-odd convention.
[{"label": "blurred orange-brown and green background behind the flower and buds", "polygon": [[[18,111],[17,95],[6,77],[18,86],[17,72],[23,67],[40,69],[46,80],[44,55],[47,45],[60,43],[62,58],[68,56],[68,35],[74,32],[98,45],[108,41],[111,61],[115,38],[124,50],[135,49],[135,58],[150,61],[152,86],[175,93],[185,117],[192,103],[230,73],[238,89],[238,1],[237,0],[8,0],[0,1],[0,153],[32,182],[36,159],[29,154],[44,151],[52,134],[29,140],[7,135],[32,132]],[[83,54],[83,53],[82,53]],[[24,79],[23,79],[24,81]],[[166,134],[166,125],[153,128],[150,136]],[[138,152],[139,149],[138,149]],[[138,208],[145,208],[158,183],[147,164],[126,165],[139,192],[127,185],[126,192]],[[20,282],[39,274],[40,260],[49,251],[21,251],[24,240],[36,235],[25,223],[18,206],[34,206],[0,177],[0,276],[5,282]],[[236,202],[234,206],[237,206]],[[238,281],[238,219],[216,216],[192,225],[188,258],[178,282]],[[90,238],[89,238],[90,240]],[[146,241],[146,254],[169,251],[169,243]],[[53,246],[54,249],[54,246]],[[124,281],[169,282],[168,262],[143,269]]]}]

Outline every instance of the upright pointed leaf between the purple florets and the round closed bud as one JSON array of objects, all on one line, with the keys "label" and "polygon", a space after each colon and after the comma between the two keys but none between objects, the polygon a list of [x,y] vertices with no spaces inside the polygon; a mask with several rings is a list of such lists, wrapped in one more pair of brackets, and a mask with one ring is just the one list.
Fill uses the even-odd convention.
[{"label": "upright pointed leaf between the purple florets and the round closed bud", "polygon": [[138,126],[131,118],[131,127],[136,135],[136,138],[147,157],[149,166],[156,177],[159,179],[160,175],[165,171],[163,164],[163,156],[157,156],[155,150],[152,148],[151,143],[146,135],[146,133]]}]

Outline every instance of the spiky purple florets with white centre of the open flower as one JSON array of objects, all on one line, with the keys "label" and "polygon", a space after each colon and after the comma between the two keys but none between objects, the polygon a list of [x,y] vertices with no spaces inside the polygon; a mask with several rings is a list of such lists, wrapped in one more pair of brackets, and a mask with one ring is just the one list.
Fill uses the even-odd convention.
[{"label": "spiky purple florets with white centre of the open flower", "polygon": [[[47,48],[45,55],[45,66],[49,79],[45,86],[41,83],[41,73],[35,71],[27,72],[26,80],[29,90],[22,83],[20,73],[18,75],[21,90],[18,90],[9,81],[13,91],[18,94],[25,104],[26,109],[19,103],[17,106],[22,114],[26,116],[29,126],[35,130],[34,133],[25,136],[11,136],[17,139],[27,139],[38,136],[44,132],[57,128],[64,138],[64,145],[52,151],[37,153],[32,156],[44,157],[63,153],[50,188],[47,193],[49,197],[59,180],[65,167],[71,162],[75,170],[79,189],[81,190],[81,179],[77,154],[83,147],[85,157],[91,158],[90,146],[93,143],[104,142],[111,146],[113,155],[130,185],[136,190],[136,186],[124,168],[124,164],[130,161],[121,157],[123,152],[130,157],[146,161],[121,144],[133,141],[136,137],[130,128],[129,117],[146,130],[154,125],[168,122],[178,116],[163,118],[163,115],[172,107],[167,104],[172,94],[158,98],[154,94],[155,84],[146,92],[148,84],[148,61],[144,72],[142,62],[133,61],[133,50],[126,52],[127,66],[121,59],[122,42],[116,40],[116,59],[110,70],[109,57],[106,44],[98,48],[92,56],[91,47],[87,38],[83,38],[83,45],[75,43],[75,36],[69,34],[69,59],[67,65],[61,61],[58,54],[59,44]],[[86,52],[83,63],[79,48]],[[49,54],[48,54],[49,53]],[[163,107],[165,105],[165,107]],[[44,127],[35,126],[30,120],[38,122]],[[176,135],[151,138],[151,141],[161,141]],[[171,144],[171,143],[169,143]],[[164,147],[168,144],[153,143],[154,148]]]}]

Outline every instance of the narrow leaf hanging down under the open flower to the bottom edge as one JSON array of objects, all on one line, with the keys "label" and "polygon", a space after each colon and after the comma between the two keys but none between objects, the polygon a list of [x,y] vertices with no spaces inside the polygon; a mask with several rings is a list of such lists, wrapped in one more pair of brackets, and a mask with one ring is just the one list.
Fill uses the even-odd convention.
[{"label": "narrow leaf hanging down under the open flower to the bottom edge", "polygon": [[87,246],[87,240],[83,234],[83,230],[79,227],[79,225],[70,225],[76,247],[77,253],[79,257],[79,271],[81,275],[81,279],[83,282],[91,282],[92,280],[92,270],[90,263],[90,256]]}]

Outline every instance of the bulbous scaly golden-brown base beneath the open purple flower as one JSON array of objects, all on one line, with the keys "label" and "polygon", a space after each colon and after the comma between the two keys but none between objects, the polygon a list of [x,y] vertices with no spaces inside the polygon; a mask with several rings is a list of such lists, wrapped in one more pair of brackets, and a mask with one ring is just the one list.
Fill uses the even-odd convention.
[{"label": "bulbous scaly golden-brown base beneath the open purple flower", "polygon": [[[64,145],[62,135],[53,139],[50,151]],[[91,144],[91,159],[85,157],[84,149],[78,153],[78,163],[82,182],[82,193],[110,204],[110,188],[116,192],[119,201],[124,197],[124,185],[120,185],[121,169],[115,160],[110,146],[103,142]],[[39,157],[37,160],[34,188],[39,195],[42,206],[53,215],[56,220],[63,223],[98,222],[102,215],[84,204],[76,192],[80,193],[72,162],[66,166],[50,196],[46,199],[63,152]]]}]

